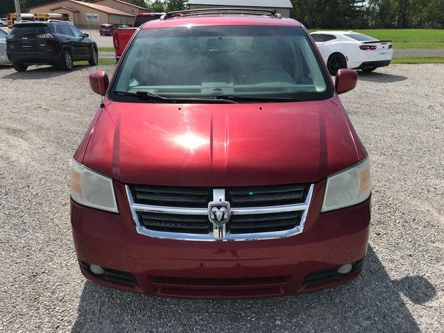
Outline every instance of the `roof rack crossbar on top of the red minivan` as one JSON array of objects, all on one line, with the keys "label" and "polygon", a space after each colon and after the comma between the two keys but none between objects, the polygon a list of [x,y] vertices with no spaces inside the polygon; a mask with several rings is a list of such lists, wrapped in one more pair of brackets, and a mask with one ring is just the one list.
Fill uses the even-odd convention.
[{"label": "roof rack crossbar on top of the red minivan", "polygon": [[203,8],[203,9],[189,9],[189,10],[178,10],[176,12],[167,12],[167,14],[160,17],[160,19],[169,19],[171,17],[183,17],[183,16],[193,16],[193,15],[206,15],[206,14],[246,14],[246,15],[262,15],[268,13],[269,17],[276,17],[282,19],[282,14],[277,10],[272,9],[261,9],[261,8]]}]

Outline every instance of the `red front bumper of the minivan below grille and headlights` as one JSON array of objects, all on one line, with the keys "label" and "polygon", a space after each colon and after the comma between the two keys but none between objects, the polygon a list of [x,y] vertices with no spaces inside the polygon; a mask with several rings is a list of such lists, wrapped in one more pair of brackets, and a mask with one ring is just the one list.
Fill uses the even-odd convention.
[{"label": "red front bumper of the minivan below grille and headlights", "polygon": [[[319,214],[325,182],[315,185],[302,234],[261,241],[177,241],[137,234],[123,185],[115,185],[120,214],[71,201],[80,268],[88,280],[158,296],[249,298],[284,296],[349,282],[366,254],[370,198]],[[346,275],[336,273],[352,263]],[[94,275],[88,264],[105,268]]]}]

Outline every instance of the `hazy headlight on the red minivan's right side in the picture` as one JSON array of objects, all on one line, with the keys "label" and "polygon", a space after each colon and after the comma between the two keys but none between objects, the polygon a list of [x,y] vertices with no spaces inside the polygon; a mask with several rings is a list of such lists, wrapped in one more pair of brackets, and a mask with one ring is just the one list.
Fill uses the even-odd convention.
[{"label": "hazy headlight on the red minivan's right side in the picture", "polygon": [[327,178],[322,212],[357,205],[370,196],[368,158],[355,166]]}]

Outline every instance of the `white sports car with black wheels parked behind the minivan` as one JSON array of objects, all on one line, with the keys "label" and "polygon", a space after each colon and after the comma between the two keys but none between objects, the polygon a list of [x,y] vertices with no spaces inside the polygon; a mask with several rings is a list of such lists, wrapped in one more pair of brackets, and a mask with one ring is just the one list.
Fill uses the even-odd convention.
[{"label": "white sports car with black wheels parked behind the minivan", "polygon": [[332,75],[341,68],[374,71],[390,65],[393,57],[391,40],[375,40],[353,31],[316,31],[311,37]]}]

